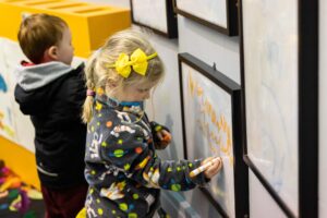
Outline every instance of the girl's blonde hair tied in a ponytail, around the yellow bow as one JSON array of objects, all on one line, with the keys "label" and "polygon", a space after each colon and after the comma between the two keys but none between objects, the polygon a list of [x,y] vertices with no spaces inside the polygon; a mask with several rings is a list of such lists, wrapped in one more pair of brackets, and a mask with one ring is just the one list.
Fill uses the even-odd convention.
[{"label": "girl's blonde hair tied in a ponytail, around the yellow bow", "polygon": [[[130,76],[124,78],[118,74],[114,68],[109,68],[109,65],[114,64],[121,53],[131,56],[137,48],[142,49],[146,56],[156,52],[145,36],[138,32],[128,29],[112,35],[101,49],[96,51],[87,61],[85,69],[87,89],[96,90],[99,87],[106,89],[108,83],[114,83],[116,88],[110,90],[113,93],[132,84],[157,84],[164,77],[164,64],[158,56],[148,60],[148,66],[144,76],[132,70]],[[82,116],[84,122],[90,121],[93,101],[93,96],[86,97]]]}]

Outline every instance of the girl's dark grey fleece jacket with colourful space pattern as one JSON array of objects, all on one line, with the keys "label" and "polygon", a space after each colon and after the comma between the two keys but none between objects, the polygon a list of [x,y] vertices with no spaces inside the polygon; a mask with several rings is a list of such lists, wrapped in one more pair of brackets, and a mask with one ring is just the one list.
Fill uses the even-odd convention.
[{"label": "girl's dark grey fleece jacket with colourful space pattern", "polygon": [[86,140],[87,217],[152,217],[160,206],[160,189],[186,191],[205,184],[203,173],[189,175],[201,160],[164,161],[156,155],[159,129],[140,107],[96,95]]}]

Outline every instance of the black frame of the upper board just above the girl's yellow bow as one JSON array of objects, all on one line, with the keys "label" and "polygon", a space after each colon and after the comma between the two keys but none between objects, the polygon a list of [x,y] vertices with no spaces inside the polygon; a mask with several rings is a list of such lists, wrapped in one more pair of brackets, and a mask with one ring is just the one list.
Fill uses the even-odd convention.
[{"label": "black frame of the upper board just above the girl's yellow bow", "polygon": [[[130,0],[132,22],[138,26],[143,26],[143,27],[153,29],[156,34],[162,35],[165,37],[177,38],[178,37],[178,24],[177,24],[178,21],[177,21],[177,14],[174,13],[174,10],[173,10],[173,0],[162,0],[161,2],[162,2],[162,5],[166,5],[167,32],[162,32],[156,26],[137,22],[136,19],[134,17],[135,13],[134,13],[133,5],[135,4],[135,2],[133,3],[133,0]],[[150,9],[152,5],[147,5],[147,7]],[[146,16],[146,14],[143,14],[143,15]],[[149,17],[149,19],[154,20],[156,17]],[[158,21],[158,22],[160,22],[160,21]]]}]

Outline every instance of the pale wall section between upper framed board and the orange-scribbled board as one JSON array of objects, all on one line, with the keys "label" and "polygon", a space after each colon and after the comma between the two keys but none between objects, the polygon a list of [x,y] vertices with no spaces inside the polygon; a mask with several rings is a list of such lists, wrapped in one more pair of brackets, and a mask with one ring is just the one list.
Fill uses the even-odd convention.
[{"label": "pale wall section between upper framed board and the orange-scribbled board", "polygon": [[189,52],[241,84],[239,37],[229,37],[178,15],[180,52]]}]

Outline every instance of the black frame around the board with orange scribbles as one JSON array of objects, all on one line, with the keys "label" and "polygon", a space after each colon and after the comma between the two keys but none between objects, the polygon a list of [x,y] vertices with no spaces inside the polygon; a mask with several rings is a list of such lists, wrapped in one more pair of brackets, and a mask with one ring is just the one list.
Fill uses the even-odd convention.
[{"label": "black frame around the board with orange scribbles", "polygon": [[[235,82],[223,75],[222,73],[214,70],[213,68],[205,64],[203,61],[196,59],[195,57],[189,55],[189,53],[180,53],[178,56],[179,59],[179,75],[180,75],[180,92],[181,92],[181,109],[182,109],[182,128],[183,128],[183,141],[184,141],[184,156],[185,158],[193,158],[192,154],[190,154],[191,148],[187,149],[190,146],[190,142],[187,143],[187,134],[190,136],[190,133],[186,131],[186,109],[185,109],[185,99],[183,94],[183,68],[182,63],[185,65],[192,68],[194,72],[201,77],[204,77],[206,81],[210,82],[211,85],[215,88],[221,89],[223,95],[230,96],[230,106],[229,108],[231,112],[231,153],[232,153],[232,173],[230,173],[233,177],[233,190],[234,190],[234,214],[228,215],[228,213],[223,209],[223,207],[215,199],[215,197],[209,192],[209,187],[201,187],[201,190],[204,192],[204,194],[208,197],[208,199],[211,202],[211,204],[215,206],[215,208],[219,211],[219,214],[222,217],[246,217],[249,215],[249,174],[247,174],[247,167],[244,164],[242,159],[242,124],[241,124],[241,87]],[[213,87],[213,88],[214,88]],[[196,89],[196,88],[195,88]],[[213,105],[213,110],[215,111],[215,106]],[[211,113],[213,114],[213,113]],[[216,116],[215,118],[211,117],[211,119],[215,120],[215,123],[218,123],[218,120],[220,122],[220,119]],[[210,121],[213,121],[210,119]],[[210,140],[209,140],[210,141]],[[223,145],[219,145],[219,150],[221,150]],[[191,152],[192,153],[192,152]],[[230,159],[228,159],[230,160]],[[229,162],[229,161],[228,161]],[[230,164],[230,162],[229,162]],[[213,182],[213,181],[211,181]],[[220,187],[219,187],[220,189]]]}]

